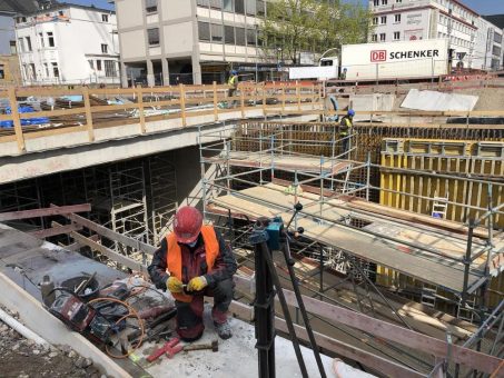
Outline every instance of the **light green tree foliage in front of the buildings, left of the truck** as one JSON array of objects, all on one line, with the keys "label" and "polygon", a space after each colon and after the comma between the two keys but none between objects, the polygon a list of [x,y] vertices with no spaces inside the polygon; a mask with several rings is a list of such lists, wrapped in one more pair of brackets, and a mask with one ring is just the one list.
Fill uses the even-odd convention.
[{"label": "light green tree foliage in front of the buildings, left of the truck", "polygon": [[[366,42],[372,13],[339,0],[270,0],[259,26],[269,57],[297,63],[299,52],[323,53],[342,44]],[[279,50],[281,49],[281,50]]]}]

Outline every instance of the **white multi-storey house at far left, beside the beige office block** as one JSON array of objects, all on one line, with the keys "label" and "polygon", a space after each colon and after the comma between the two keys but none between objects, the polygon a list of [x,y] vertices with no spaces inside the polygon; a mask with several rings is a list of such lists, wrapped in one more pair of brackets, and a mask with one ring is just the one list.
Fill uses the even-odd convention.
[{"label": "white multi-storey house at far left, beside the beige office block", "polygon": [[118,84],[119,44],[110,10],[55,4],[16,18],[24,84]]}]

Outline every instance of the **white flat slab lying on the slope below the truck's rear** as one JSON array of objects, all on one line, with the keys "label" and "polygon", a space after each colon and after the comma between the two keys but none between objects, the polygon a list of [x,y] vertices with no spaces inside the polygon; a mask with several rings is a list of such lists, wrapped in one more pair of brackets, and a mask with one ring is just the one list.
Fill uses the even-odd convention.
[{"label": "white flat slab lying on the slope below the truck's rear", "polygon": [[472,111],[477,100],[477,96],[411,89],[401,107],[425,111]]}]

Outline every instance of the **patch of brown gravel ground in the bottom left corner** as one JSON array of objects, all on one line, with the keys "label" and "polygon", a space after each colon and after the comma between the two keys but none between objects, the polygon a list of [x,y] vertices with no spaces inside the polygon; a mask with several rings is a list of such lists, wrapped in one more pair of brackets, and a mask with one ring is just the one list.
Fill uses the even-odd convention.
[{"label": "patch of brown gravel ground in the bottom left corner", "polygon": [[[3,309],[14,318],[16,314]],[[19,319],[18,319],[19,320]],[[24,339],[0,320],[0,376],[2,378],[90,377],[107,378],[90,359],[70,348],[50,348]]]}]

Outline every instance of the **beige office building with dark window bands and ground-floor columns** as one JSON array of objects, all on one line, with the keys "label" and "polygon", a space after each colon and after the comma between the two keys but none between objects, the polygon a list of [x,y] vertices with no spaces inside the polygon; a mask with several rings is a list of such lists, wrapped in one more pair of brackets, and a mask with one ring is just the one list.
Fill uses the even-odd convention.
[{"label": "beige office building with dark window bands and ground-floor columns", "polygon": [[258,48],[263,0],[116,0],[122,84],[264,78],[276,61]]}]

